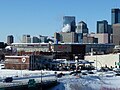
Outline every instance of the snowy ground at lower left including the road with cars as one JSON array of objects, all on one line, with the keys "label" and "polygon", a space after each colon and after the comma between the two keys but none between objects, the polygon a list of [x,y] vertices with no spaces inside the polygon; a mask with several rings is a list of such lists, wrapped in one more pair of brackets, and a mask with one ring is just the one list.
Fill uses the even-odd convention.
[{"label": "snowy ground at lower left including the road with cars", "polygon": [[[61,71],[57,73],[61,73]],[[68,72],[62,72],[62,73],[68,73]],[[3,81],[7,77],[13,77],[13,81],[11,83],[4,83]],[[43,70],[29,71],[29,70],[10,70],[10,69],[0,70],[0,88],[26,85],[28,84],[29,79],[34,79],[36,83],[40,83],[41,80],[42,82],[55,81],[56,75],[55,75],[55,71],[43,71]]]}]

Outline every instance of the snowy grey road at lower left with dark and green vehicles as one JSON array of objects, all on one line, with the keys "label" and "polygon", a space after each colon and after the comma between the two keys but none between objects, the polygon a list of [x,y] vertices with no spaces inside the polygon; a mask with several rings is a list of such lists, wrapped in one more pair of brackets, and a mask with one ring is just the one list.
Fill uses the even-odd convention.
[{"label": "snowy grey road at lower left with dark and green vehicles", "polygon": [[[41,79],[42,78],[42,79]],[[28,84],[29,79],[35,79],[36,83],[47,82],[47,81],[55,81],[56,77],[54,74],[44,75],[44,76],[29,76],[29,77],[14,77],[11,83],[3,82],[3,79],[0,80],[0,88],[3,87],[12,87],[18,85],[26,85]]]}]

